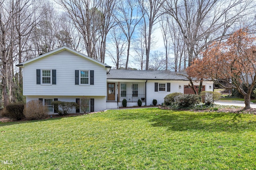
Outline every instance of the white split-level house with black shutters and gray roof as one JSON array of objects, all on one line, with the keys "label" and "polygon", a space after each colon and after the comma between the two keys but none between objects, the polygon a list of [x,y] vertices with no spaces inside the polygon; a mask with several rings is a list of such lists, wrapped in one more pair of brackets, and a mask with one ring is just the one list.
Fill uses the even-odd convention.
[{"label": "white split-level house with black shutters and gray roof", "polygon": [[[191,93],[189,81],[171,71],[110,70],[111,67],[68,47],[19,63],[23,68],[23,95],[26,102],[40,100],[54,114],[52,101],[80,103],[84,98],[89,112],[127,106],[159,104],[169,93]],[[197,86],[198,83],[195,82]],[[205,81],[203,90],[212,91],[213,82]],[[73,109],[71,113],[82,113]]]}]

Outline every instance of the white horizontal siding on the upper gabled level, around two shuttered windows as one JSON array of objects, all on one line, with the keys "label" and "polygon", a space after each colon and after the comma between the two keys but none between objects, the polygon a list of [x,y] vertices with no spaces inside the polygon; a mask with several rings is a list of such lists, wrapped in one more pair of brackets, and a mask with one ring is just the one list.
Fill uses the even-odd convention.
[{"label": "white horizontal siding on the upper gabled level, around two shuttered windows", "polygon": [[[56,85],[37,85],[36,69],[56,69]],[[75,70],[94,70],[94,85],[75,85]],[[24,65],[24,95],[106,96],[106,68],[68,51]]]}]

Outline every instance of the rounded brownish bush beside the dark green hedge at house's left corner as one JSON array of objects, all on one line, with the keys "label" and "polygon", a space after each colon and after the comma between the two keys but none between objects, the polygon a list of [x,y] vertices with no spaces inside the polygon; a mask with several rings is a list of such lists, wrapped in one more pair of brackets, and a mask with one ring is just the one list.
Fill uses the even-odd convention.
[{"label": "rounded brownish bush beside the dark green hedge at house's left corner", "polygon": [[45,119],[48,117],[48,107],[39,100],[32,100],[25,105],[23,113],[28,120]]}]

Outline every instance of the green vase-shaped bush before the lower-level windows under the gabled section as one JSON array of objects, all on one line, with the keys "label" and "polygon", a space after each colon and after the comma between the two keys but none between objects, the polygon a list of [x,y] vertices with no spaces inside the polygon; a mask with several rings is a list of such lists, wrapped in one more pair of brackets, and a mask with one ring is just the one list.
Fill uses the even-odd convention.
[{"label": "green vase-shaped bush before the lower-level windows under the gabled section", "polygon": [[68,115],[72,108],[77,106],[75,102],[68,101],[52,101],[52,105],[60,116]]}]

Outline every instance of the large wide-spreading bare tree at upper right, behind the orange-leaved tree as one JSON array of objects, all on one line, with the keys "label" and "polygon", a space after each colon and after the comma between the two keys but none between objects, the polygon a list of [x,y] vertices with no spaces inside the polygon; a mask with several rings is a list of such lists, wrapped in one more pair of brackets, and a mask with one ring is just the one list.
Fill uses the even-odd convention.
[{"label": "large wide-spreading bare tree at upper right, behind the orange-leaved tree", "polygon": [[166,13],[174,18],[182,33],[188,66],[208,44],[227,38],[232,27],[253,14],[254,4],[253,0],[166,1]]}]

